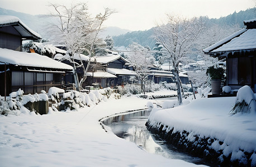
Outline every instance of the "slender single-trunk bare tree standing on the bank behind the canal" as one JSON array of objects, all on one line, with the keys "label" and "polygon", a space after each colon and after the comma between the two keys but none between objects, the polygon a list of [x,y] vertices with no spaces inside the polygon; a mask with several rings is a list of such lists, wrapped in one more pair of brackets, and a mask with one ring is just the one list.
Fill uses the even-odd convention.
[{"label": "slender single-trunk bare tree standing on the bank behind the canal", "polygon": [[186,19],[167,14],[167,24],[157,25],[154,30],[154,39],[163,45],[165,55],[174,68],[179,104],[182,104],[182,94],[178,66],[186,58],[186,52],[189,51],[203,28],[198,18]]}]

